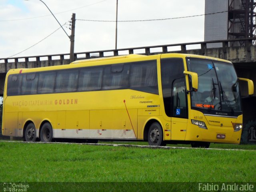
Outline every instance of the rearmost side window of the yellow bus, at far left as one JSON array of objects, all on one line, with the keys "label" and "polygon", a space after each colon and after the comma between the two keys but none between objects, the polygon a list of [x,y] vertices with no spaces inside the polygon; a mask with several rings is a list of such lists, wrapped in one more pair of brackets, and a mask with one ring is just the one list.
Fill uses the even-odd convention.
[{"label": "rearmost side window of the yellow bus, at far left", "polygon": [[9,75],[7,81],[7,95],[20,95],[21,82],[22,76],[20,74]]}]

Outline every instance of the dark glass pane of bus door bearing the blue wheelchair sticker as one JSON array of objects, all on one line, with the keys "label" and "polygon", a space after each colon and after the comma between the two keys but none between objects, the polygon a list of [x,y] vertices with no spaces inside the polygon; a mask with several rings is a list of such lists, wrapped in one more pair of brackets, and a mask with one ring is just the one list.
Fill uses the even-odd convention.
[{"label": "dark glass pane of bus door bearing the blue wheelchair sticker", "polygon": [[173,116],[187,118],[185,78],[174,80],[172,87],[172,103]]}]

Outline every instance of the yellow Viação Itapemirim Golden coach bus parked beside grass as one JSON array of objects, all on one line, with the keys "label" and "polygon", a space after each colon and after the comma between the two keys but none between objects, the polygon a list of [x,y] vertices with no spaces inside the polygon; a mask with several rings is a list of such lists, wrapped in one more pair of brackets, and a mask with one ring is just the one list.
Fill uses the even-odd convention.
[{"label": "yellow Via\u00e7\u00e3o Itapemirim Golden coach bus parked beside grass", "polygon": [[239,80],[231,62],[190,54],[130,54],[6,75],[2,134],[140,140],[150,145],[240,142]]}]

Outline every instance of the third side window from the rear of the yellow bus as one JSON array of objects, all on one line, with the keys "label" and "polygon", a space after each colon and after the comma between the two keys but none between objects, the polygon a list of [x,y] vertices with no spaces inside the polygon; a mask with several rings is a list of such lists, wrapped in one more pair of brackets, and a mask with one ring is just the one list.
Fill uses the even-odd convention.
[{"label": "third side window from the rear of the yellow bus", "polygon": [[53,93],[56,72],[39,73],[38,94]]}]

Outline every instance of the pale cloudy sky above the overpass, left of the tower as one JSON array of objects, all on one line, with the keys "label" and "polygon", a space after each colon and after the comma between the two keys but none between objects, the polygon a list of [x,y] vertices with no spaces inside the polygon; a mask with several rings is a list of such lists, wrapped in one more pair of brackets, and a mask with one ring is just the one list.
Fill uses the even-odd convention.
[{"label": "pale cloudy sky above the overpass, left of the tower", "polygon": [[[115,48],[115,22],[83,20],[115,21],[116,0],[43,2],[60,24],[66,23],[63,27],[68,35],[71,34],[69,21],[72,13],[76,13],[74,52]],[[119,21],[166,19],[199,14],[204,14],[204,0],[118,0]],[[40,0],[0,0],[0,25],[0,58],[70,52],[68,36]],[[118,22],[117,36],[119,49],[200,42],[204,40],[204,16]],[[34,44],[36,45],[33,46]],[[32,47],[29,48],[30,46]],[[27,48],[29,49],[26,50]],[[22,52],[23,50],[25,51]],[[17,54],[19,52],[21,53]]]}]

